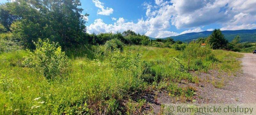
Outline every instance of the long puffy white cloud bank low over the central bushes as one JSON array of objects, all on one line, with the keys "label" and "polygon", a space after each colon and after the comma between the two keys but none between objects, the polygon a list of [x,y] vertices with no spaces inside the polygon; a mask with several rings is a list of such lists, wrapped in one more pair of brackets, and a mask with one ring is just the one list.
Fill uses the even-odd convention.
[{"label": "long puffy white cloud bank low over the central bushes", "polygon": [[[166,25],[166,24],[163,24]],[[94,20],[94,23],[87,27],[88,33],[108,33],[108,32],[123,32],[128,29],[136,33],[145,34],[156,38],[164,38],[169,36],[179,35],[176,32],[162,30],[163,27],[156,28],[158,25],[151,25],[150,20],[139,19],[137,23],[125,22],[124,18],[119,18],[114,24],[105,24],[102,19]]]}]

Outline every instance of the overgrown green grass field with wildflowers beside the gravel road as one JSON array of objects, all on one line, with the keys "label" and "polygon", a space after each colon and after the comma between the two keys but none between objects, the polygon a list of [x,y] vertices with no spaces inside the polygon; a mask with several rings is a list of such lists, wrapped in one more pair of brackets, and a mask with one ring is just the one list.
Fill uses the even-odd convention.
[{"label": "overgrown green grass field with wildflowers beside the gravel road", "polygon": [[66,50],[70,65],[66,65],[65,74],[51,79],[45,76],[52,73],[42,72],[42,66],[28,66],[29,59],[34,58],[28,57],[42,52],[20,50],[0,54],[0,113],[138,114],[147,102],[134,97],[152,90],[167,90],[170,96],[189,98],[194,90],[180,88],[178,83],[199,80],[188,71],[236,72],[240,69],[236,58],[242,57],[195,43],[180,51],[135,45],[119,49],[107,51],[105,46],[84,46]]}]

